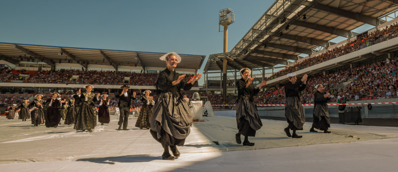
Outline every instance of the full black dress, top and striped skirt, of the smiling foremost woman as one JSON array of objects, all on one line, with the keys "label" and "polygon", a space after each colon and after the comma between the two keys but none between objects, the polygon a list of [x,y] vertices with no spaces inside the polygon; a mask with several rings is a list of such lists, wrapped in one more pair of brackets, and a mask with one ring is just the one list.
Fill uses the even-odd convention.
[{"label": "full black dress, top and striped skirt, of the smiling foremost woman", "polygon": [[150,119],[153,138],[165,146],[182,146],[190,134],[194,115],[180,90],[190,90],[192,84],[185,80],[175,86],[172,85],[181,74],[170,72],[167,68],[159,73],[156,87],[160,94],[152,109]]}]

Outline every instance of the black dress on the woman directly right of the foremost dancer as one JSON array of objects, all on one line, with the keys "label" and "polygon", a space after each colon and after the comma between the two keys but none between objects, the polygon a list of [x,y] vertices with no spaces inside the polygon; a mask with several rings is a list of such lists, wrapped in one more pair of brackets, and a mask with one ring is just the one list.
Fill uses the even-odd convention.
[{"label": "black dress on the woman directly right of the foremost dancer", "polygon": [[244,79],[236,81],[236,86],[238,87],[238,99],[235,105],[236,124],[240,134],[254,137],[256,135],[256,130],[259,130],[263,126],[253,99],[253,96],[256,95],[260,89],[255,88],[253,84],[246,87],[246,83],[247,81]]}]

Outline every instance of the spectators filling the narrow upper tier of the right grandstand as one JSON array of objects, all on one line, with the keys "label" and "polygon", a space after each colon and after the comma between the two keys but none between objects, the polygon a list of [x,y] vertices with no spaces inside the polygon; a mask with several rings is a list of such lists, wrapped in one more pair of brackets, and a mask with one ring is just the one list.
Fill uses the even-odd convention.
[{"label": "spectators filling the narrow upper tier of the right grandstand", "polygon": [[275,78],[278,78],[281,76],[285,76],[289,73],[292,73],[292,72],[325,62],[325,61],[328,61],[330,59],[334,59],[334,58],[346,55],[348,53],[362,49],[364,47],[395,38],[395,37],[397,37],[397,35],[398,35],[398,23],[396,22],[390,26],[387,26],[384,29],[381,29],[381,30],[376,29],[375,31],[373,31],[371,33],[358,36],[355,40],[347,42],[344,45],[335,47],[330,50],[326,50],[325,52],[323,52],[320,55],[307,58],[307,59],[302,60],[292,66],[282,69],[282,70],[278,71],[277,73],[275,73],[274,75],[272,75],[269,78],[269,80],[275,79]]}]

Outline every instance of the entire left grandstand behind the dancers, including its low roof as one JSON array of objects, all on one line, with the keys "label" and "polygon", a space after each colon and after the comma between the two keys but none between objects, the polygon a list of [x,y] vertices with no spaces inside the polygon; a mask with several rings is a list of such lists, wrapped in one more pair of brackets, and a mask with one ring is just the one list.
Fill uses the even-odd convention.
[{"label": "entire left grandstand behind the dancers, including its low roof", "polygon": [[[0,43],[0,105],[19,104],[35,93],[69,97],[87,84],[112,96],[127,84],[135,92],[155,90],[158,73],[166,68],[165,53]],[[205,56],[180,54],[179,73],[197,74]],[[191,89],[199,91],[198,83]],[[190,97],[191,92],[186,92]],[[156,94],[154,95],[156,98]],[[139,107],[140,101],[133,104]]]}]

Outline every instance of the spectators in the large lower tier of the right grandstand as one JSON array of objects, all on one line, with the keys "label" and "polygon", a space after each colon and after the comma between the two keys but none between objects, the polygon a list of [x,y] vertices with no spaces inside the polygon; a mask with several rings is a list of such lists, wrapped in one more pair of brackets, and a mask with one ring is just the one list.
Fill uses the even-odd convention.
[{"label": "spectators in the large lower tier of the right grandstand", "polygon": [[[327,75],[309,77],[307,87],[301,91],[302,103],[313,103],[317,84],[331,95],[329,102],[398,97],[398,57]],[[345,84],[344,84],[345,83]],[[285,104],[285,87],[266,89],[256,97],[258,104]]]}]

